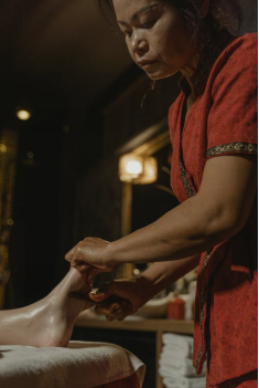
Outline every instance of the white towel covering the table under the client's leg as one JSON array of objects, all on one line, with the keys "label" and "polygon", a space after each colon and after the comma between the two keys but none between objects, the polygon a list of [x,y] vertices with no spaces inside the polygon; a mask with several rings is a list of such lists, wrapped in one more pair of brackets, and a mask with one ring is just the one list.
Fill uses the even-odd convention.
[{"label": "white towel covering the table under the client's leg", "polygon": [[116,345],[72,342],[68,348],[0,346],[1,388],[94,388],[134,374],[144,365]]}]

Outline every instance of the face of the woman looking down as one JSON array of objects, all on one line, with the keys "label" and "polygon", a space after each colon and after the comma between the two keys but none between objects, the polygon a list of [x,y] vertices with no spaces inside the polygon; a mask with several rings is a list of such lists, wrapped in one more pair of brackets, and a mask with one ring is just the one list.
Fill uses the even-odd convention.
[{"label": "face of the woman looking down", "polygon": [[152,80],[194,70],[196,50],[176,8],[163,0],[114,0],[132,60]]}]

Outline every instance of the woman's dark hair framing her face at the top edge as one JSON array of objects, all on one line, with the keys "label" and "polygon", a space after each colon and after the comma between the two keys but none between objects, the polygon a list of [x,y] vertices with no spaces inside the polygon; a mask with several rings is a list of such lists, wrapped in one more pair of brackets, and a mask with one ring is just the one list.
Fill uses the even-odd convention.
[{"label": "woman's dark hair framing her face at the top edge", "polygon": [[[201,18],[202,0],[161,0],[176,7],[188,25],[193,39],[197,42],[203,35],[204,21]],[[102,14],[112,22],[115,8],[112,0],[98,0]],[[215,30],[227,29],[238,34],[242,24],[242,11],[238,0],[211,0],[208,15],[205,19],[213,23]]]}]

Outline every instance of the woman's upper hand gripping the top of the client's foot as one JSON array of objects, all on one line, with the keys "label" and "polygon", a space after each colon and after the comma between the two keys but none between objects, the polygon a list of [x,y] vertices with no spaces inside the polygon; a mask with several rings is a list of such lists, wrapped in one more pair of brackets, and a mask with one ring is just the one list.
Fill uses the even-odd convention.
[{"label": "woman's upper hand gripping the top of the client's foot", "polygon": [[101,239],[87,238],[74,247],[65,259],[71,262],[72,268],[76,268],[80,272],[88,271],[88,281],[91,283],[99,273],[115,270],[105,260],[105,252],[109,244],[108,241]]}]

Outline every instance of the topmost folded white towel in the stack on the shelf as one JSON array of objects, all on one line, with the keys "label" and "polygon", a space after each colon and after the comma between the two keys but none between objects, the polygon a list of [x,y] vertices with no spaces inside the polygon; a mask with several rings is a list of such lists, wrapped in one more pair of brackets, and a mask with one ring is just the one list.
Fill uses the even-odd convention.
[{"label": "topmost folded white towel in the stack on the shelf", "polygon": [[181,357],[193,357],[193,337],[177,334],[164,334],[163,344],[166,349],[177,352]]}]

